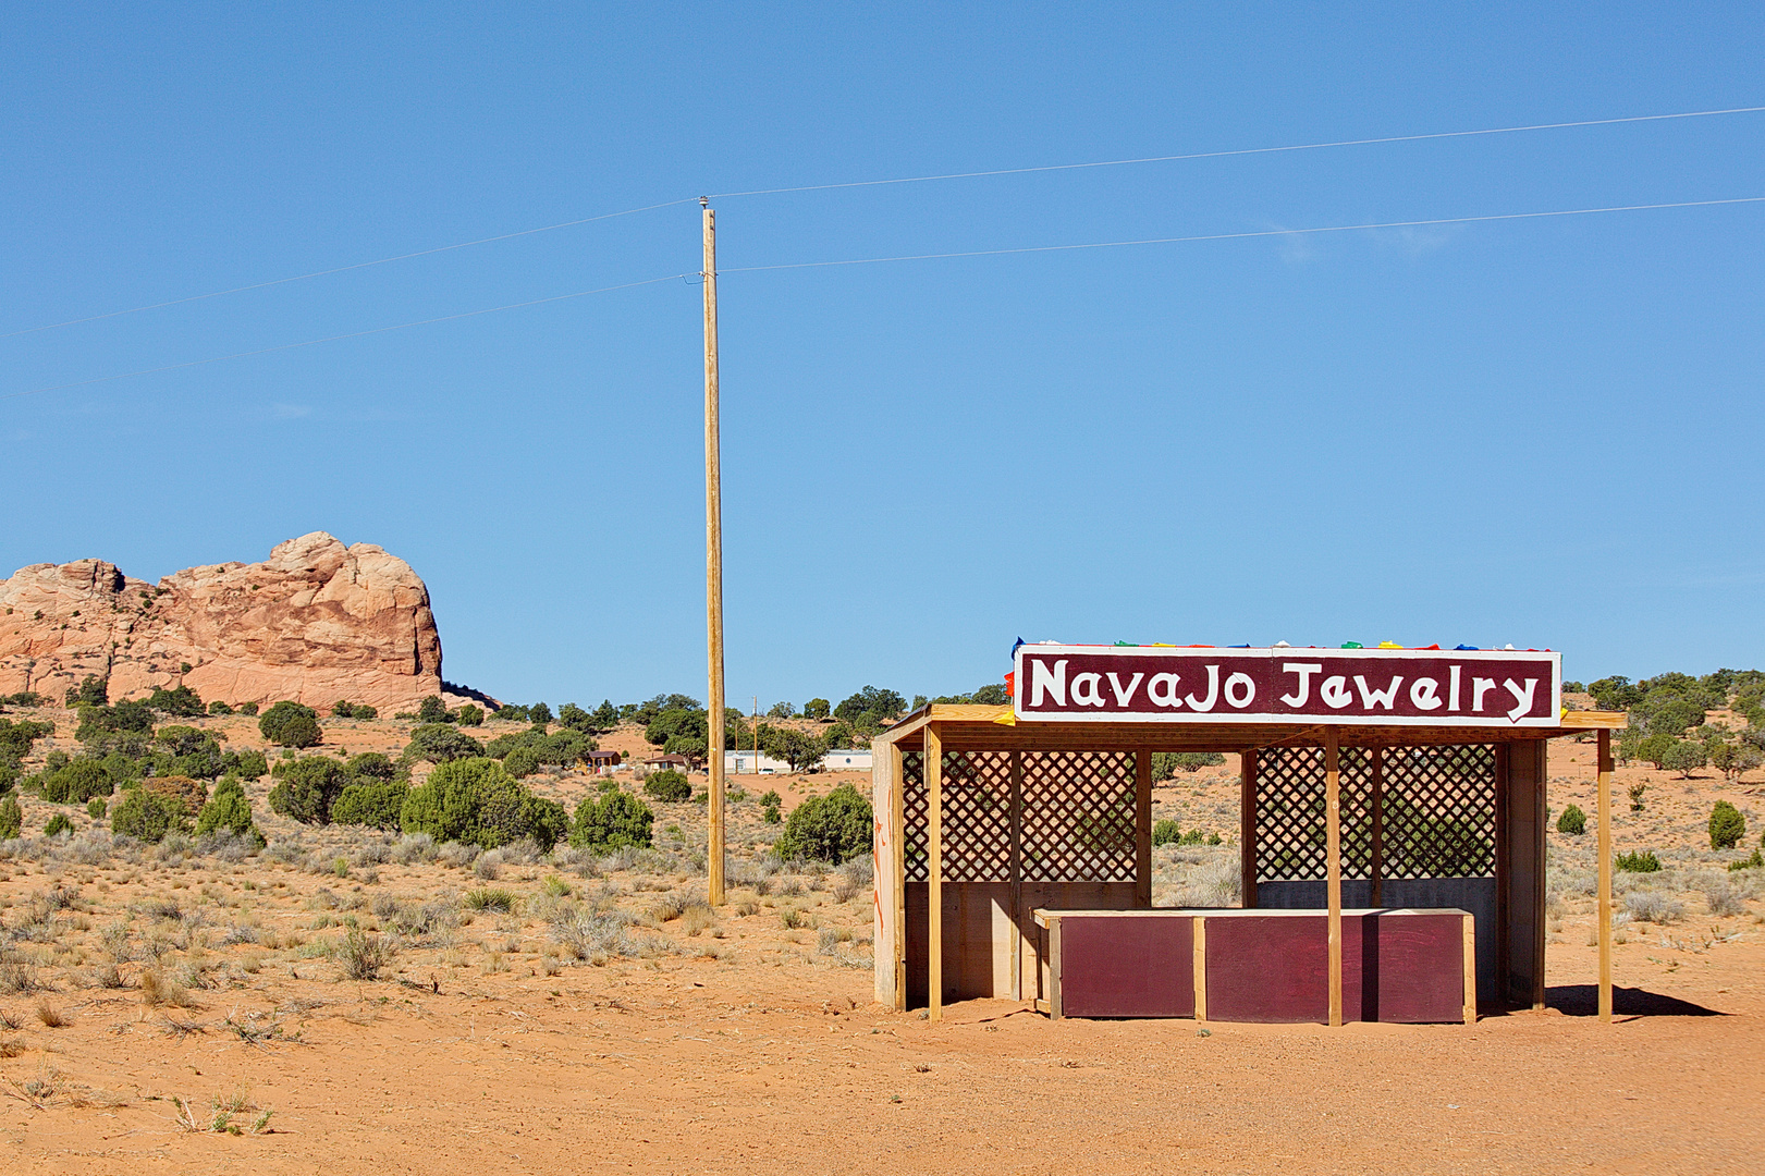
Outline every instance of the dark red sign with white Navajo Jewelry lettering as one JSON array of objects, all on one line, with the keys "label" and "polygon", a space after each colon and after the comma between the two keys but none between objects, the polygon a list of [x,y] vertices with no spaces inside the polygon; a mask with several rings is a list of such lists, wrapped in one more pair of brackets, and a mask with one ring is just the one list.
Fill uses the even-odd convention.
[{"label": "dark red sign with white Navajo Jewelry lettering", "polygon": [[1562,655],[1022,645],[1018,719],[1560,726]]}]

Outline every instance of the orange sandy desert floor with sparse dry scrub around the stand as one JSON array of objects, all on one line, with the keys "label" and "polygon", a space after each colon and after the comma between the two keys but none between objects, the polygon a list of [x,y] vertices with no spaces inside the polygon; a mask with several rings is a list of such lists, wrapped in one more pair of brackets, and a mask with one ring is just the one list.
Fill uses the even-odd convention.
[{"label": "orange sandy desert floor with sparse dry scrub around the stand", "polygon": [[[1590,750],[1553,747],[1553,812],[1592,812]],[[259,855],[116,848],[26,798],[26,830],[65,810],[81,833],[0,862],[0,1171],[1758,1172],[1765,895],[1703,821],[1728,796],[1756,844],[1761,786],[1638,768],[1631,814],[1629,772],[1617,844],[1666,869],[1620,876],[1620,909],[1650,893],[1659,922],[1624,918],[1615,1024],[1590,1017],[1592,833],[1551,833],[1548,1010],[1334,1031],[879,1008],[863,869],[780,871],[752,802],[710,911],[692,803],[657,807],[653,853],[538,860],[295,826],[268,780]],[[1158,816],[1230,841],[1234,773],[1161,786]],[[789,805],[830,780],[766,786]],[[1236,856],[1161,848],[1156,892]]]}]

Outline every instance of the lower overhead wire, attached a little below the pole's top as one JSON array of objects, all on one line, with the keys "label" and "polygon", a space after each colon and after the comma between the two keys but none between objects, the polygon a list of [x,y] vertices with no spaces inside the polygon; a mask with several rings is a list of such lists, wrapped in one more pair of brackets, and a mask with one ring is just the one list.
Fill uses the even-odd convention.
[{"label": "lower overhead wire, attached a little below the pole's top", "polygon": [[[1142,237],[1133,240],[1100,240],[1100,242],[1082,242],[1071,245],[1020,245],[1011,249],[962,249],[951,253],[911,253],[890,258],[844,258],[835,261],[784,261],[778,265],[738,265],[729,268],[720,268],[718,275],[727,274],[764,274],[771,270],[814,270],[826,267],[845,267],[845,265],[879,265],[886,261],[939,261],[946,258],[995,258],[1006,254],[1024,254],[1024,253],[1068,253],[1077,249],[1124,249],[1128,245],[1177,245],[1177,244],[1197,244],[1211,240],[1250,240],[1258,237],[1304,237],[1315,233],[1352,233],[1363,230],[1398,230],[1398,228],[1430,228],[1442,224],[1486,224],[1493,221],[1536,221],[1543,217],[1580,217],[1596,215],[1608,212],[1652,212],[1666,208],[1712,208],[1721,205],[1758,205],[1765,203],[1765,196],[1735,196],[1728,200],[1679,200],[1652,205],[1608,205],[1599,208],[1555,208],[1546,212],[1497,212],[1484,215],[1468,217],[1430,217],[1423,221],[1380,221],[1373,224],[1326,224],[1317,228],[1297,228],[1297,230],[1257,230],[1246,233],[1195,233],[1188,237]],[[632,290],[635,286],[655,286],[657,283],[669,283],[676,279],[688,279],[694,274],[667,274],[664,277],[646,277],[635,283],[620,283],[616,286],[600,286],[597,290],[579,290],[567,295],[551,295],[547,298],[530,298],[526,302],[508,302],[505,305],[484,307],[478,311],[461,311],[459,314],[439,314],[436,318],[422,318],[409,323],[395,323],[392,327],[371,327],[367,330],[351,330],[341,335],[325,335],[323,339],[305,339],[302,343],[282,343],[268,348],[256,348],[251,351],[233,351],[229,355],[215,355],[212,358],[187,360],[182,364],[166,364],[162,367],[143,367],[139,371],[125,371],[111,376],[94,376],[92,380],[74,380],[71,383],[55,383],[41,388],[26,388],[23,392],[4,392],[0,399],[18,399],[23,396],[37,396],[41,392],[64,392],[67,388],[85,388],[95,383],[109,383],[113,380],[129,380],[132,376],[152,376],[166,371],[182,371],[185,367],[203,367],[207,364],[221,364],[233,358],[249,358],[252,355],[270,355],[274,351],[293,351],[297,348],[311,348],[319,343],[339,343],[342,339],[360,339],[364,335],[379,335],[390,330],[404,330],[408,327],[427,327],[431,323],[448,323],[461,318],[475,318],[478,314],[494,314],[498,311],[517,311],[530,305],[544,305],[547,302],[565,302],[568,298],[582,298],[597,293],[611,293],[614,290]]]}]

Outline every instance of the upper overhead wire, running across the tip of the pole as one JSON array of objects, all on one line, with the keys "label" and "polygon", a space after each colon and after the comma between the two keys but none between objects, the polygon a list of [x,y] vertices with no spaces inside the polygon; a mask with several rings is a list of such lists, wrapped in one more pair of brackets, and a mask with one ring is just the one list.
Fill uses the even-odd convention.
[{"label": "upper overhead wire, running across the tip of the pole", "polygon": [[[1144,157],[1137,157],[1137,159],[1103,159],[1103,161],[1075,162],[1075,164],[1043,164],[1043,166],[1034,166],[1034,168],[995,168],[995,170],[988,170],[988,171],[951,171],[951,173],[943,173],[943,175],[895,177],[895,178],[884,178],[884,180],[845,180],[845,182],[840,182],[840,184],[803,184],[803,185],[796,185],[796,187],[764,187],[764,189],[752,189],[752,191],[745,191],[745,192],[718,192],[718,194],[708,196],[706,200],[734,200],[734,198],[741,198],[741,196],[778,196],[778,194],[787,194],[787,192],[822,192],[822,191],[835,191],[835,189],[845,189],[845,187],[884,187],[884,185],[895,185],[895,184],[930,184],[930,182],[937,182],[937,180],[974,180],[974,178],[1004,177],[1004,175],[1033,175],[1033,173],[1040,173],[1040,171],[1080,171],[1080,170],[1089,170],[1089,168],[1124,168],[1124,166],[1131,166],[1131,164],[1179,162],[1179,161],[1191,161],[1191,159],[1227,159],[1227,157],[1234,157],[1234,155],[1273,155],[1273,154],[1281,154],[1281,152],[1311,152],[1311,150],[1326,150],[1326,148],[1336,148],[1336,147],[1373,147],[1373,145],[1380,145],[1380,143],[1421,143],[1421,141],[1428,141],[1428,139],[1456,139],[1456,138],[1474,138],[1474,136],[1490,136],[1490,134],[1521,134],[1521,132],[1528,132],[1528,131],[1566,131],[1566,129],[1574,129],[1574,127],[1608,127],[1608,125],[1636,124],[1636,122],[1668,122],[1668,120],[1677,120],[1677,118],[1712,118],[1712,117],[1717,117],[1717,115],[1753,115],[1753,113],[1761,113],[1761,111],[1765,111],[1765,106],[1731,106],[1731,108],[1724,108],[1724,109],[1694,109],[1694,111],[1680,111],[1680,113],[1671,113],[1671,115],[1629,115],[1629,117],[1624,117],[1624,118],[1581,118],[1581,120],[1576,120],[1576,122],[1541,122],[1541,124],[1518,125],[1518,127],[1484,127],[1484,129],[1477,129],[1477,131],[1435,131],[1435,132],[1426,132],[1426,134],[1389,134],[1389,136],[1370,138],[1370,139],[1333,139],[1333,141],[1326,141],[1326,143],[1290,143],[1290,145],[1285,145],[1285,147],[1246,147],[1246,148],[1218,150],[1218,152],[1190,152],[1190,154],[1183,154],[1183,155],[1144,155]],[[56,330],[56,328],[62,328],[62,327],[78,327],[81,323],[95,323],[95,321],[102,321],[102,320],[109,320],[109,318],[122,318],[125,314],[139,314],[143,311],[161,311],[161,309],[173,307],[173,305],[187,305],[191,302],[205,302],[208,298],[221,298],[221,297],[226,297],[226,295],[249,293],[252,290],[267,290],[270,286],[286,286],[289,283],[309,281],[309,279],[314,279],[314,277],[330,277],[334,274],[348,274],[351,270],[365,270],[365,268],[372,268],[376,265],[390,265],[392,261],[409,261],[409,260],[415,260],[415,258],[425,258],[425,256],[438,254],[438,253],[450,253],[454,249],[469,249],[473,245],[489,245],[489,244],[501,242],[501,240],[514,240],[517,237],[533,237],[535,233],[551,233],[551,231],[556,231],[556,230],[575,228],[579,224],[593,224],[595,221],[611,221],[611,219],[616,219],[616,217],[635,215],[639,212],[657,212],[660,208],[674,208],[678,205],[690,205],[690,203],[694,203],[697,200],[699,200],[697,196],[687,196],[687,198],[681,198],[681,200],[665,200],[662,203],[644,205],[641,208],[623,208],[620,212],[604,212],[604,214],[593,215],[593,217],[579,217],[579,219],[574,219],[574,221],[560,221],[558,224],[542,224],[538,228],[515,230],[515,231],[510,231],[510,233],[498,233],[494,237],[478,237],[475,240],[462,240],[462,242],[455,242],[452,245],[434,245],[431,249],[415,249],[411,253],[401,253],[401,254],[394,254],[394,256],[388,256],[388,258],[374,258],[372,261],[355,261],[351,265],[339,265],[339,267],[332,267],[332,268],[325,268],[325,270],[312,270],[312,272],[307,272],[307,274],[293,274],[293,275],[288,275],[288,277],[275,277],[275,279],[270,279],[270,281],[249,283],[245,286],[231,286],[228,290],[214,290],[214,291],[208,291],[208,293],[189,295],[189,297],[184,297],[184,298],[168,298],[164,302],[148,302],[145,305],[134,305],[134,307],[127,307],[124,311],[108,311],[104,314],[86,314],[85,318],[69,318],[69,320],[64,320],[60,323],[42,323],[39,327],[23,327],[19,330],[0,332],[0,339],[14,339],[18,335],[30,335],[30,334],[37,334],[37,332],[42,332],[42,330]]]}]

